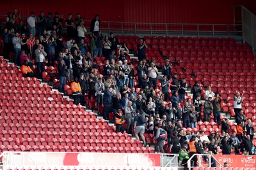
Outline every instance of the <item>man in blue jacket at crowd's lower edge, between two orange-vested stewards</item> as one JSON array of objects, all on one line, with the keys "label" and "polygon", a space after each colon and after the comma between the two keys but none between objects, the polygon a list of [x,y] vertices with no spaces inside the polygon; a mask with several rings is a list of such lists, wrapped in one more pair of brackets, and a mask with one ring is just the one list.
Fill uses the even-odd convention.
[{"label": "man in blue jacket at crowd's lower edge, between two orange-vested stewards", "polygon": [[109,111],[111,110],[111,102],[112,102],[112,91],[113,89],[109,87],[104,92],[103,96],[103,104],[104,104],[104,115],[103,118],[109,120]]}]

